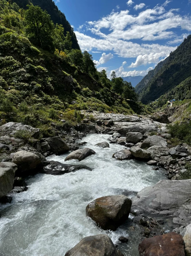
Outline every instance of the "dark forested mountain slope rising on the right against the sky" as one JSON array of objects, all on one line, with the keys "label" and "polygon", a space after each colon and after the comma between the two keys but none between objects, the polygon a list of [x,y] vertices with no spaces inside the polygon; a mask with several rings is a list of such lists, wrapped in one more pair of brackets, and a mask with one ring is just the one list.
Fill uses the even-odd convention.
[{"label": "dark forested mountain slope rising on the right against the sky", "polygon": [[184,39],[177,50],[170,54],[162,68],[155,73],[148,83],[143,87],[138,85],[136,91],[139,93],[139,99],[142,103],[148,103],[172,90],[190,76],[191,35]]}]

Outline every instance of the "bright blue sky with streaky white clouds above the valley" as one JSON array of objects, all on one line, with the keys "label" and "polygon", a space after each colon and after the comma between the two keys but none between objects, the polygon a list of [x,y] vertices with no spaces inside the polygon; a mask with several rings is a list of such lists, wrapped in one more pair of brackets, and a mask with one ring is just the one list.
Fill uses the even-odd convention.
[{"label": "bright blue sky with streaky white clouds above the valley", "polygon": [[191,0],[55,2],[108,76],[145,76],[191,34]]}]

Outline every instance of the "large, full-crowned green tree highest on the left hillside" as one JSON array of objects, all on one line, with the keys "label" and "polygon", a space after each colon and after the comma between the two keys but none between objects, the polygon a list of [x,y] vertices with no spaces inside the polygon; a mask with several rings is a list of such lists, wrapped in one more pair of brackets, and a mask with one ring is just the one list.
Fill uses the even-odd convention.
[{"label": "large, full-crowned green tree highest on the left hillside", "polygon": [[54,24],[47,11],[43,11],[39,6],[28,6],[24,18],[26,24],[26,34],[29,40],[43,48],[44,50],[54,50],[53,32]]}]

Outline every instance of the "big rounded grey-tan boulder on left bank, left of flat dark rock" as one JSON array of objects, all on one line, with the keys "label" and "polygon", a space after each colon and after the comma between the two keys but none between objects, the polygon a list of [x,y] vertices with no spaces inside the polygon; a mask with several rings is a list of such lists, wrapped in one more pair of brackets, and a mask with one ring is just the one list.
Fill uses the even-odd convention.
[{"label": "big rounded grey-tan boulder on left bank, left of flat dark rock", "polygon": [[41,164],[39,156],[24,150],[16,152],[12,160],[18,166],[17,174],[28,174],[30,171],[40,167]]}]

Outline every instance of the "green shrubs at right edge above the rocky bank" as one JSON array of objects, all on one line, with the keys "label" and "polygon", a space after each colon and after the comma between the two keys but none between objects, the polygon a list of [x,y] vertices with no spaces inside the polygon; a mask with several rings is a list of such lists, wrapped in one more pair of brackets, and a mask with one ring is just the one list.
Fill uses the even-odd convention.
[{"label": "green shrubs at right edge above the rocky bank", "polygon": [[172,138],[178,138],[184,143],[191,145],[191,121],[185,123],[176,123],[168,125]]}]

